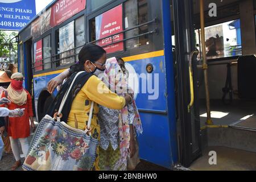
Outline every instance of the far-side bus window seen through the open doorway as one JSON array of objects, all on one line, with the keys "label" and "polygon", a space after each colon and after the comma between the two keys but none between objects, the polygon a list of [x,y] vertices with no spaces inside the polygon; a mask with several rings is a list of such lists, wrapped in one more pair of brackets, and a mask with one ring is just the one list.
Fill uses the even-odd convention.
[{"label": "far-side bus window seen through the open doorway", "polygon": [[[201,31],[195,32],[197,49],[201,50]],[[207,59],[242,55],[240,19],[205,27],[205,44]]]}]

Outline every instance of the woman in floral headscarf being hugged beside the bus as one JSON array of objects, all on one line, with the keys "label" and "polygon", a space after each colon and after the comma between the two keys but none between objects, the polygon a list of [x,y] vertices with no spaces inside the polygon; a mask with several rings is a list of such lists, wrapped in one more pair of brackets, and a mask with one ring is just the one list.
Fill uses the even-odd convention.
[{"label": "woman in floral headscarf being hugged beside the bus", "polygon": [[[118,59],[118,61],[115,57],[108,59],[105,71],[97,71],[94,75],[98,76],[113,92],[119,96],[125,96],[125,93],[133,93],[133,90],[127,88],[129,73],[123,60]],[[53,78],[48,84],[48,91],[53,92],[70,75],[69,72],[70,70],[67,70]],[[137,134],[142,133],[142,123],[133,94],[131,99],[133,101],[121,110],[99,105],[101,170],[126,170],[127,159],[135,153],[135,131]]]}]

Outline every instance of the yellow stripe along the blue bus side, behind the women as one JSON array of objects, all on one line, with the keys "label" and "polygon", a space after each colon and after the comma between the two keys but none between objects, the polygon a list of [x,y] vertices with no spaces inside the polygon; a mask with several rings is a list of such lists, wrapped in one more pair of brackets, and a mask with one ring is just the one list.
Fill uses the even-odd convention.
[{"label": "yellow stripe along the blue bus side, behind the women", "polygon": [[[123,60],[126,61],[126,62],[129,62],[129,61],[135,61],[135,60],[141,60],[141,59],[148,59],[148,58],[151,58],[151,57],[159,57],[159,56],[163,56],[163,55],[164,55],[164,51],[162,50],[162,51],[143,53],[141,55],[123,57]],[[53,72],[47,72],[47,73],[42,73],[42,74],[34,75],[34,78],[41,77],[41,76],[58,74],[58,73],[61,73],[61,72],[65,71],[65,70],[66,69],[60,69],[60,70],[53,71]]]}]

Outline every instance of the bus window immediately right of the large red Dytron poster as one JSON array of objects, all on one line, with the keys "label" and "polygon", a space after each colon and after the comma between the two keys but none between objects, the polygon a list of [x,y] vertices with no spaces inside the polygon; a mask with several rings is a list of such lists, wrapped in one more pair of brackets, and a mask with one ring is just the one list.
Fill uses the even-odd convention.
[{"label": "bus window immediately right of the large red Dytron poster", "polygon": [[[147,1],[129,0],[125,2],[125,29],[135,27],[139,24],[148,22]],[[148,32],[148,26],[135,28],[125,33],[126,38],[131,38],[139,34]],[[148,35],[126,41],[126,49],[134,49],[140,46],[148,45]]]}]

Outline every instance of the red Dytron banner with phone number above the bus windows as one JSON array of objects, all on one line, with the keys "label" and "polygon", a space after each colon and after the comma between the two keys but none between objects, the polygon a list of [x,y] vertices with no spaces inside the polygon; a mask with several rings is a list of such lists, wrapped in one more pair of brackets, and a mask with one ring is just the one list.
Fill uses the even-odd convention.
[{"label": "red Dytron banner with phone number above the bus windows", "polygon": [[51,26],[54,27],[84,10],[86,0],[59,0],[52,6]]}]

